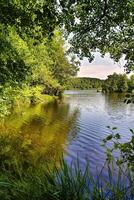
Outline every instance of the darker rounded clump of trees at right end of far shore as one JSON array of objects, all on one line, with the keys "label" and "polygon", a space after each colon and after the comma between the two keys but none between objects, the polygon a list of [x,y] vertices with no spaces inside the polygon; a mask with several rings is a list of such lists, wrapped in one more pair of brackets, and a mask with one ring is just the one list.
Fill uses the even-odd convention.
[{"label": "darker rounded clump of trees at right end of far shore", "polygon": [[105,92],[133,92],[134,90],[134,75],[127,78],[126,74],[109,75],[104,81],[102,89]]}]

